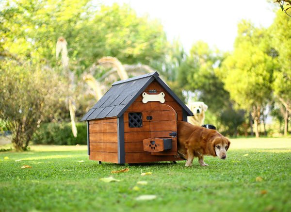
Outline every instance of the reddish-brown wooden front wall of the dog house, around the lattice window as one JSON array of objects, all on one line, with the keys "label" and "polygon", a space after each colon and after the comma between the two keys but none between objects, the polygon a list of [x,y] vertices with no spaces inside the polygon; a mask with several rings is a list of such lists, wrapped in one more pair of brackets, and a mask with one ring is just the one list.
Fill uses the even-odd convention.
[{"label": "reddish-brown wooden front wall of the dog house, around the lattice window", "polygon": [[[172,129],[176,129],[175,113],[168,113],[169,108],[164,107],[169,105],[177,113],[177,120],[183,119],[182,107],[162,88],[162,86],[154,81],[152,82],[144,92],[149,94],[148,90],[157,90],[157,94],[160,92],[165,93],[165,102],[160,103],[157,101],[150,101],[146,104],[142,102],[142,95],[140,95],[124,113],[124,140],[125,140],[125,163],[146,163],[146,162],[158,162],[158,161],[176,161],[180,160],[176,158],[173,154],[177,151],[177,139],[174,138],[173,149],[167,153],[164,152],[164,156],[153,155],[153,152],[146,152],[143,150],[143,140],[150,138],[150,136],[159,137],[169,137],[169,133]],[[165,111],[165,113],[163,113]],[[143,113],[143,126],[141,128],[129,128],[128,124],[128,113],[131,112],[141,112]],[[149,124],[149,120],[146,116],[151,115],[153,119]],[[168,131],[165,130],[163,126],[167,126]],[[154,153],[154,154],[159,154]],[[160,153],[161,154],[161,153]]]}]

